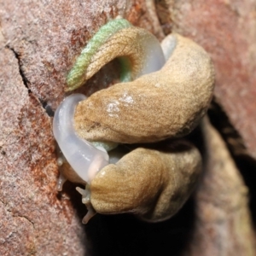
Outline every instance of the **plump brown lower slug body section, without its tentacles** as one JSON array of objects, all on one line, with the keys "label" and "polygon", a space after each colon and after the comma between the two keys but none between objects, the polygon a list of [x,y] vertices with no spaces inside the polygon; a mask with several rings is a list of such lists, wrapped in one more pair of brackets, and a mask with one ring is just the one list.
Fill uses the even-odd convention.
[{"label": "plump brown lower slug body section, without its tentacles", "polygon": [[201,155],[178,141],[164,150],[136,148],[105,166],[90,184],[96,212],[132,212],[148,222],[172,217],[187,201],[201,173]]}]

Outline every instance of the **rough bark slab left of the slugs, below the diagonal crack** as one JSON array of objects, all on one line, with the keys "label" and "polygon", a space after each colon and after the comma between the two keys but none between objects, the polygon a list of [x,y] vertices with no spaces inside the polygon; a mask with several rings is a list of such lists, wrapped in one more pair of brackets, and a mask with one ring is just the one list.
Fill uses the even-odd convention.
[{"label": "rough bark slab left of the slugs, below the diagonal crack", "polygon": [[55,190],[49,116],[23,84],[15,53],[2,49],[0,59],[0,254],[82,255],[80,220]]}]

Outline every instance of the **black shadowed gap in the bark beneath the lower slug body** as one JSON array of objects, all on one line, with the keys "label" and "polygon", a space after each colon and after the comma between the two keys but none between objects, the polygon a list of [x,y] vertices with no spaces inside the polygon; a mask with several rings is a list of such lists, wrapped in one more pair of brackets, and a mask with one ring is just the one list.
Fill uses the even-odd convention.
[{"label": "black shadowed gap in the bark beneath the lower slug body", "polygon": [[143,222],[131,214],[96,215],[86,224],[90,256],[180,255],[193,229],[194,201],[164,222]]}]

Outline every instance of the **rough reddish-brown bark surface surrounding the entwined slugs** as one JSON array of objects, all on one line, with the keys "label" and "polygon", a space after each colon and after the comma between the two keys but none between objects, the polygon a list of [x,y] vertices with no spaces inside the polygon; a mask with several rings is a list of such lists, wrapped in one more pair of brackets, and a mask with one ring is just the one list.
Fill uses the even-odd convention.
[{"label": "rough reddish-brown bark surface surrounding the entwined slugs", "polygon": [[[236,242],[237,247],[233,245],[239,253],[226,250],[224,255],[250,255],[241,253],[242,249],[253,252],[247,196],[232,163],[227,165],[235,175],[234,183],[228,183],[224,197],[216,197],[218,187],[211,184],[233,174],[217,177],[211,172],[195,197],[195,216],[191,200],[177,216],[160,224],[145,224],[127,215],[97,215],[84,228],[81,218],[85,210],[74,187],[69,191],[67,184],[62,194],[55,190],[58,170],[51,109],[65,96],[67,72],[80,50],[100,26],[117,15],[154,32],[159,39],[172,29],[181,32],[211,53],[217,71],[216,98],[249,154],[256,158],[255,1],[155,2],[160,21],[153,0],[0,0],[1,255],[179,255],[185,245],[190,245],[189,255],[201,255],[196,244],[201,250],[216,249],[216,234],[230,229],[234,234],[222,239]],[[118,79],[113,61],[79,91],[90,95]],[[212,156],[216,166],[226,161],[230,162],[230,156]],[[218,184],[220,188],[225,185]],[[236,185],[240,189],[236,190]],[[230,197],[233,192],[236,197]],[[212,209],[202,194],[218,207]],[[241,208],[232,205],[234,214],[229,216],[224,202],[229,205],[235,198]],[[211,210],[216,215],[209,223]],[[219,218],[229,227],[220,230]],[[245,227],[244,237],[236,233],[235,222]],[[193,227],[191,239],[187,235]]]}]

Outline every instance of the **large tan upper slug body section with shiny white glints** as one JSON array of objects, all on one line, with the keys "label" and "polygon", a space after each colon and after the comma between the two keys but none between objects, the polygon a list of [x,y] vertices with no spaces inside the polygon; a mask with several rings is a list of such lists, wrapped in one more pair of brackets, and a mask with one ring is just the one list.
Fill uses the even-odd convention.
[{"label": "large tan upper slug body section with shiny white glints", "polygon": [[178,34],[163,45],[164,67],[128,83],[114,84],[80,102],[75,129],[89,141],[154,143],[189,134],[212,100],[214,71],[207,52]]}]

